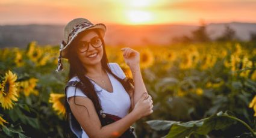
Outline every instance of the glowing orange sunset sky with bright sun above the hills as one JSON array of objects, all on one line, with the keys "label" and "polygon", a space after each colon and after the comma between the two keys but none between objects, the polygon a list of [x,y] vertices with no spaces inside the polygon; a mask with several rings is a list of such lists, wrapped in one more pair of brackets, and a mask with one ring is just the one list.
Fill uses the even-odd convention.
[{"label": "glowing orange sunset sky with bright sun above the hills", "polygon": [[1,0],[0,25],[256,23],[256,0]]}]

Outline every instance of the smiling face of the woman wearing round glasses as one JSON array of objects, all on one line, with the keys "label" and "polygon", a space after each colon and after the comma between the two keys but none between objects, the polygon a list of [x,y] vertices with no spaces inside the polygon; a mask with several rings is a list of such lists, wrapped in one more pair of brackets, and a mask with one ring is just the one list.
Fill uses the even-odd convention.
[{"label": "smiling face of the woman wearing round glasses", "polygon": [[[92,46],[92,44],[94,46],[97,46],[98,43],[98,48]],[[96,34],[96,32],[93,30],[86,31],[86,34],[78,39],[78,43],[76,44],[76,53],[78,55],[78,58],[84,65],[90,66],[101,64],[101,59],[103,56],[103,46],[102,43],[100,43],[101,40],[99,39],[98,34]],[[87,46],[88,49],[86,50]],[[96,53],[96,56],[94,56],[94,53]]]}]

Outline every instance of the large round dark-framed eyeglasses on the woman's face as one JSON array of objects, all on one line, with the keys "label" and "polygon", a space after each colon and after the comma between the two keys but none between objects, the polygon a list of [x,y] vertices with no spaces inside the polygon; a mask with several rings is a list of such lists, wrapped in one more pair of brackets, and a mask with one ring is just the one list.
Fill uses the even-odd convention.
[{"label": "large round dark-framed eyeglasses on the woman's face", "polygon": [[101,38],[99,37],[92,38],[92,40],[89,41],[89,43],[87,43],[86,41],[78,42],[78,50],[80,52],[87,52],[87,50],[89,49],[89,44],[91,44],[94,48],[99,48],[102,46]]}]

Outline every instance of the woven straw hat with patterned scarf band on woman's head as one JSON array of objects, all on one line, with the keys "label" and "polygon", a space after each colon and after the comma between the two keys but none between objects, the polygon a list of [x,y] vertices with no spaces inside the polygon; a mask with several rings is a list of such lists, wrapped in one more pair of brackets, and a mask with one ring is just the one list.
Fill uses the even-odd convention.
[{"label": "woven straw hat with patterned scarf band on woman's head", "polygon": [[67,23],[64,27],[64,40],[60,43],[60,56],[58,56],[58,68],[56,71],[63,70],[61,58],[67,58],[70,43],[80,32],[87,31],[89,29],[98,29],[102,38],[104,38],[106,26],[103,23],[97,23],[94,25],[92,22],[84,18],[76,18]]}]

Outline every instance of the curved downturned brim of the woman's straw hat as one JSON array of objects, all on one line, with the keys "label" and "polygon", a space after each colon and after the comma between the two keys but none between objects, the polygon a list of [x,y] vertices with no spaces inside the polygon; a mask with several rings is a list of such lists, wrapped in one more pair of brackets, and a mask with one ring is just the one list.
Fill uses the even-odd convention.
[{"label": "curved downturned brim of the woman's straw hat", "polygon": [[80,32],[87,31],[89,29],[98,29],[99,32],[101,33],[102,38],[105,37],[106,26],[103,23],[97,23],[95,25],[80,28],[78,29],[78,31],[75,32],[75,34],[73,34],[73,36],[70,38],[68,42],[64,42],[64,41],[61,42],[61,46],[60,46],[61,58],[67,58],[67,52],[68,52],[68,49],[70,48],[69,45],[78,36],[78,34],[80,34]]}]

